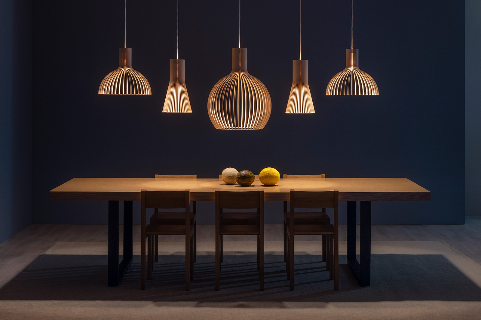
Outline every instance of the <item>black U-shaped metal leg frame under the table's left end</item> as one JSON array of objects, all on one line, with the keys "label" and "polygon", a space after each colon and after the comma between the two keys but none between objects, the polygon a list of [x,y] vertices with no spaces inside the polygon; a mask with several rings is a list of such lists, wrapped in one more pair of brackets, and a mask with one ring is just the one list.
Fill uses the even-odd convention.
[{"label": "black U-shaped metal leg frame under the table's left end", "polygon": [[132,264],[132,201],[124,201],[124,258],[119,260],[119,202],[109,201],[108,285],[118,285]]}]

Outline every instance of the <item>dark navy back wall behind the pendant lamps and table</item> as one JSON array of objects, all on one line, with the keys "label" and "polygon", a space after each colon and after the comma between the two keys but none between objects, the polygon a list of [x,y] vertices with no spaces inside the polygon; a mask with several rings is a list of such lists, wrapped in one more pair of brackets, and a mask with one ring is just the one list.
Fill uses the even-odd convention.
[{"label": "dark navy back wall behind the pendant lamps and table", "polygon": [[[316,114],[285,114],[298,59],[296,1],[242,1],[241,46],[267,87],[264,130],[215,130],[207,98],[230,72],[238,2],[180,1],[179,58],[192,114],[162,114],[176,54],[175,0],[127,1],[127,47],[152,96],[99,96],[123,45],[123,1],[34,3],[34,223],[105,223],[107,204],[49,201],[74,177],[215,177],[226,167],[327,177],[406,177],[426,202],[375,202],[374,223],[464,223],[464,1],[354,1],[354,48],[378,97],[327,97],[350,46],[351,1],[303,1]],[[281,223],[280,203],[266,222]],[[345,204],[342,205],[345,208]],[[203,203],[199,223],[213,222]],[[277,211],[276,211],[277,210]]]}]

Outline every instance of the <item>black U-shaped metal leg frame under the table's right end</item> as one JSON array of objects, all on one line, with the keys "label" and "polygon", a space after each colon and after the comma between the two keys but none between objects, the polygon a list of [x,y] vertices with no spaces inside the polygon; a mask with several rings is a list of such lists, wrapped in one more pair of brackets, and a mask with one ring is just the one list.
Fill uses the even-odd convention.
[{"label": "black U-shaped metal leg frame under the table's right end", "polygon": [[371,284],[371,201],[361,201],[359,261],[356,259],[356,202],[347,201],[347,264],[360,286]]}]

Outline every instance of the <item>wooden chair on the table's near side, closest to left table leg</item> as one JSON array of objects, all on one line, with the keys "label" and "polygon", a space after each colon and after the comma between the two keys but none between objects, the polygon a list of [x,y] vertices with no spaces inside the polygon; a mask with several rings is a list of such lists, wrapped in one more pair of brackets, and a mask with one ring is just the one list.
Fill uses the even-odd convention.
[{"label": "wooden chair on the table's near side, closest to left table leg", "polygon": [[[152,278],[153,240],[158,234],[185,235],[185,290],[190,289],[190,280],[194,276],[194,222],[195,212],[190,212],[189,190],[185,191],[140,191],[141,202],[141,259],[140,259],[140,289],[145,290],[145,239],[147,239],[147,279]],[[179,212],[162,212],[163,217],[156,223],[146,225],[146,209],[184,208],[183,218]],[[164,223],[165,222],[165,223]]]}]

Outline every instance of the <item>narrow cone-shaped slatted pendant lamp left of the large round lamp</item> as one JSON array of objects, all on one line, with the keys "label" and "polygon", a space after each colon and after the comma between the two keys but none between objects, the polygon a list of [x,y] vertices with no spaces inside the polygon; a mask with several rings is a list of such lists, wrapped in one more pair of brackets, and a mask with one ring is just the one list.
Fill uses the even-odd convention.
[{"label": "narrow cone-shaped slatted pendant lamp left of the large round lamp", "polygon": [[177,0],[177,59],[170,59],[170,80],[162,112],[192,112],[185,86],[185,60],[179,59],[179,1]]}]

